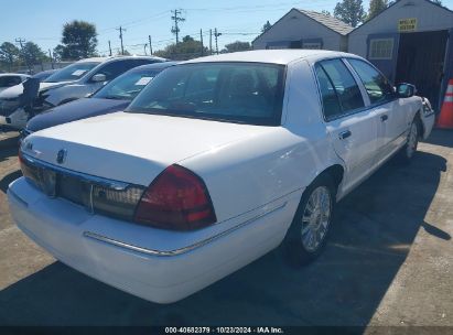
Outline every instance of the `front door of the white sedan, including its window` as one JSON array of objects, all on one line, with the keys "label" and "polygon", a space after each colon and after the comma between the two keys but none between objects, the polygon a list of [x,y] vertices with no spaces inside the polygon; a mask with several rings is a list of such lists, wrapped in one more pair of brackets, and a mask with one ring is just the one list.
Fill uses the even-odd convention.
[{"label": "front door of the white sedan, including its window", "polygon": [[357,58],[348,58],[368,95],[377,123],[377,154],[375,164],[382,163],[398,150],[406,139],[408,106],[397,98],[389,80],[373,65]]}]

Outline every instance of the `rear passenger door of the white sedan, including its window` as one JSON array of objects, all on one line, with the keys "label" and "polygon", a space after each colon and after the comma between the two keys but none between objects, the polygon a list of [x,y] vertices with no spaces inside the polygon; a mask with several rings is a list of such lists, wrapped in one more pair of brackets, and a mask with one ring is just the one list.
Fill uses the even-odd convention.
[{"label": "rear passenger door of the white sedan, including its window", "polygon": [[377,125],[366,109],[354,76],[339,60],[315,64],[324,119],[336,154],[346,166],[343,192],[358,184],[370,171],[376,150]]}]

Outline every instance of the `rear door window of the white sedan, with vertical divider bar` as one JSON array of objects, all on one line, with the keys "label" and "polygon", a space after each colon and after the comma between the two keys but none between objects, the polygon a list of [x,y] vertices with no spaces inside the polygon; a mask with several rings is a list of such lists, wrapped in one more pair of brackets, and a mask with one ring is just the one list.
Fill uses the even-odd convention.
[{"label": "rear door window of the white sedan, with vertical divider bar", "polygon": [[365,106],[360,89],[343,61],[323,61],[315,69],[327,120]]}]

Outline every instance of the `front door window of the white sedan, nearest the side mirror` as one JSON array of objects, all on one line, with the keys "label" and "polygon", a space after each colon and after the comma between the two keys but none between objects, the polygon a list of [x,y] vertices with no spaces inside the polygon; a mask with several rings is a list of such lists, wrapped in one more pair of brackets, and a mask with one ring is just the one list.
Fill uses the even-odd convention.
[{"label": "front door window of the white sedan, nearest the side mirror", "polygon": [[393,87],[376,68],[360,60],[350,58],[348,62],[364,83],[371,105],[393,99]]}]

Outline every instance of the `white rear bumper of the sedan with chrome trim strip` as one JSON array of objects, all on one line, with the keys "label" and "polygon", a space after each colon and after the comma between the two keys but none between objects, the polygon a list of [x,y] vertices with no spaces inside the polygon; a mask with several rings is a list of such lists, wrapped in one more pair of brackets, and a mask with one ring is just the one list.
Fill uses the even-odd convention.
[{"label": "white rear bumper of the sedan with chrome trim strip", "polygon": [[46,197],[23,177],[10,185],[8,198],[18,226],[62,262],[145,300],[171,303],[276,248],[300,194],[191,233],[90,215]]}]

